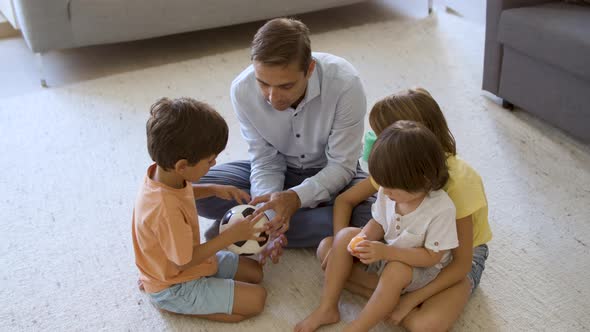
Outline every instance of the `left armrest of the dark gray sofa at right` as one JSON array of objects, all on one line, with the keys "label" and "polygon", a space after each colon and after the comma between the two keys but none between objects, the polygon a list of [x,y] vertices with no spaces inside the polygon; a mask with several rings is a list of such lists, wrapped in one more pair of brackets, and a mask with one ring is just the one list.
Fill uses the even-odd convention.
[{"label": "left armrest of the dark gray sofa at right", "polygon": [[487,0],[486,37],[483,61],[484,90],[498,94],[502,69],[502,45],[498,42],[498,24],[502,11],[510,8],[535,6],[554,0]]}]

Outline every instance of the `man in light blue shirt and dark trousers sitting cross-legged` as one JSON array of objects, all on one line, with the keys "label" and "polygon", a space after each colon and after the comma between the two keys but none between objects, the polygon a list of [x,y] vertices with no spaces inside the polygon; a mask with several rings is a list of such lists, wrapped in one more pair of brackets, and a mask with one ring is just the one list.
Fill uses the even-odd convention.
[{"label": "man in light blue shirt and dark trousers sitting cross-legged", "polygon": [[[251,59],[231,85],[250,161],[220,165],[200,183],[249,191],[250,204],[263,203],[256,212],[272,216],[272,235],[284,233],[288,247],[317,246],[332,235],[336,195],[367,176],[358,166],[366,113],[361,80],[346,60],[312,54],[308,28],[293,19],[262,26]],[[247,195],[200,200],[198,211],[219,220],[240,197]],[[369,201],[360,204],[351,223],[363,226],[370,208]]]}]

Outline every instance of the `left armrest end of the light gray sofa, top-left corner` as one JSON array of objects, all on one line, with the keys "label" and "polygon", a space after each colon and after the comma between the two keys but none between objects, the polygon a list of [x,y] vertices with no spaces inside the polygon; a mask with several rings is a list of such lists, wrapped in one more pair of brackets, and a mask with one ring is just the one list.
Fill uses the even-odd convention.
[{"label": "left armrest end of the light gray sofa, top-left corner", "polygon": [[33,52],[71,47],[71,0],[14,0],[16,19]]}]

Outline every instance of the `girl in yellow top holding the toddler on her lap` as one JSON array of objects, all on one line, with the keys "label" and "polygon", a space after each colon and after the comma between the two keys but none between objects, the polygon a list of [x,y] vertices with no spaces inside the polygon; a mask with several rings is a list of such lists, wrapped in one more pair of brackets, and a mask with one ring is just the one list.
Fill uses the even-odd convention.
[{"label": "girl in yellow top holding the toddler on her lap", "polygon": [[[428,91],[417,88],[390,95],[378,101],[369,115],[369,123],[377,135],[399,120],[420,122],[440,140],[447,154],[449,180],[444,186],[457,211],[459,247],[452,250],[453,261],[425,287],[401,297],[391,321],[407,329],[450,329],[479,284],[488,257],[486,243],[492,232],[488,224],[488,204],[481,177],[465,161],[457,157],[455,138],[451,134],[440,107]],[[358,183],[336,198],[334,234],[349,224],[352,209],[379,187],[371,178]],[[325,268],[332,237],[318,247],[318,258]],[[356,264],[346,288],[370,297],[378,277],[371,276]]]}]

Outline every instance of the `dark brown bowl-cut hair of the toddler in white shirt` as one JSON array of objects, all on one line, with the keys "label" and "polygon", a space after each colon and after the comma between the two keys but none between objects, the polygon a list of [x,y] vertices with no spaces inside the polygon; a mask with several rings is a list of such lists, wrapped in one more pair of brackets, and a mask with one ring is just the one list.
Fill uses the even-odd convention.
[{"label": "dark brown bowl-cut hair of the toddler in white shirt", "polygon": [[436,136],[414,121],[397,121],[377,138],[369,156],[369,172],[380,186],[408,192],[429,192],[449,179],[445,153]]}]

